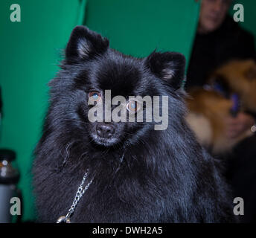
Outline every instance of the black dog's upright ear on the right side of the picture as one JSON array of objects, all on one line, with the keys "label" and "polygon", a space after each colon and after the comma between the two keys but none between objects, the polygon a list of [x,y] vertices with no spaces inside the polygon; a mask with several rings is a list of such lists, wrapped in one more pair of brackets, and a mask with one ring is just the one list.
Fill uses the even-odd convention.
[{"label": "black dog's upright ear on the right side of the picture", "polygon": [[185,77],[185,57],[176,52],[154,51],[146,58],[146,65],[156,77],[165,80],[173,89],[179,89]]}]

